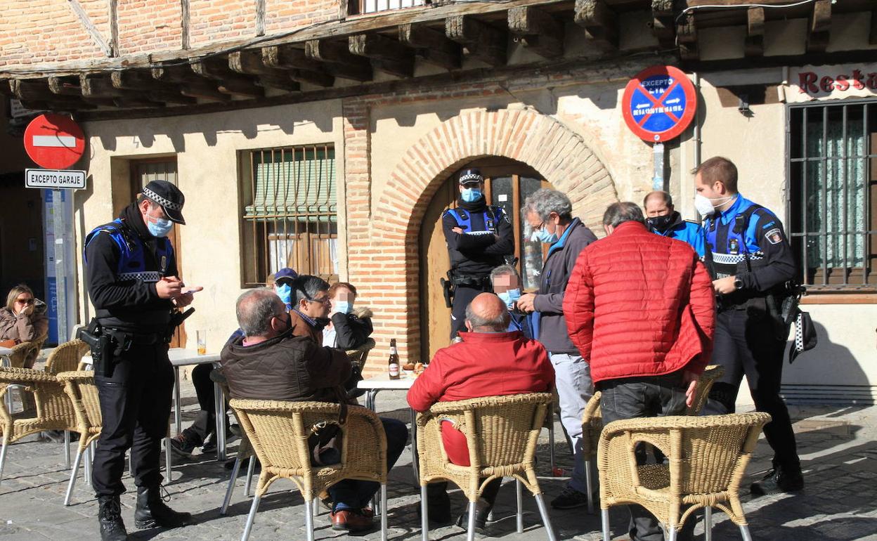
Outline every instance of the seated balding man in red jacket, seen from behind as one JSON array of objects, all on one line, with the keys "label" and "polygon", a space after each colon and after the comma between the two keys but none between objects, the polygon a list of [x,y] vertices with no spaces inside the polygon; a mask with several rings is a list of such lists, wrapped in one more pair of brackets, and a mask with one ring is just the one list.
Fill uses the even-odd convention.
[{"label": "seated balding man in red jacket, seen from behind", "polygon": [[[427,368],[408,391],[408,403],[417,411],[426,411],[436,402],[466,400],[481,396],[541,393],[552,388],[554,368],[545,347],[524,338],[520,331],[507,332],[509,310],[506,303],[492,293],[477,295],[466,309],[463,341],[436,352]],[[459,466],[469,466],[466,437],[449,423],[442,426],[442,440],[448,459]],[[475,517],[476,529],[484,529],[490,509],[496,502],[501,480],[493,480],[482,493],[484,505]],[[436,522],[450,520],[450,501],[446,482],[431,483],[430,518]],[[465,527],[466,516],[457,524]]]}]

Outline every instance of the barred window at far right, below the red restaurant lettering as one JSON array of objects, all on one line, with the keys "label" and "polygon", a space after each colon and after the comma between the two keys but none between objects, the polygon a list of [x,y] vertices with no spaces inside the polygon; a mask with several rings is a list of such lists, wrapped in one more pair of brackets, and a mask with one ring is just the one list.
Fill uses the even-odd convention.
[{"label": "barred window at far right, below the red restaurant lettering", "polygon": [[811,291],[877,291],[877,101],[789,106],[788,233]]}]

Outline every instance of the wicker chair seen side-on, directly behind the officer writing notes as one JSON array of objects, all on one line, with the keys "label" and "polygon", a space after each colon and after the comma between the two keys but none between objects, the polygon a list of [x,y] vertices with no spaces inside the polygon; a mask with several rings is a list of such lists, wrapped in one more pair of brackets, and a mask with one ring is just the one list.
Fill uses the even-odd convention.
[{"label": "wicker chair seen side-on, directly behind the officer writing notes", "polygon": [[70,482],[67,494],[64,496],[64,505],[70,505],[70,496],[76,484],[76,474],[79,473],[79,465],[82,463],[82,454],[85,454],[85,478],[89,479],[91,457],[89,449],[91,442],[101,435],[101,404],[97,397],[94,372],[62,372],[57,375],[58,380],[64,383],[64,391],[73,403],[76,413],[76,431],[79,432],[79,448],[76,450],[76,459],[73,470],[70,472]]}]

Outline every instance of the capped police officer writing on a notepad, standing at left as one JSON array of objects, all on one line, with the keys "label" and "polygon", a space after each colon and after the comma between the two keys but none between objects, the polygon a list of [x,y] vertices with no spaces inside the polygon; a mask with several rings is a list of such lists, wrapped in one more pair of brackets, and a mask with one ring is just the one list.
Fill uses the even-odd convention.
[{"label": "capped police officer writing on a notepad, standing at left", "polygon": [[174,528],[191,523],[162,501],[161,440],[168,432],[174,372],[168,342],[175,310],[192,302],[201,288],[185,288],[176,276],[174,248],[168,232],[182,218],[182,192],[170,182],[146,184],[136,203],[118,219],[91,231],[85,260],[96,317],[89,334],[109,339],[96,360],[95,383],[103,428],[97,440],[92,473],[100,505],[103,541],[127,538],[119,495],[122,472],[131,449],[137,485],[134,523],[138,528]]}]

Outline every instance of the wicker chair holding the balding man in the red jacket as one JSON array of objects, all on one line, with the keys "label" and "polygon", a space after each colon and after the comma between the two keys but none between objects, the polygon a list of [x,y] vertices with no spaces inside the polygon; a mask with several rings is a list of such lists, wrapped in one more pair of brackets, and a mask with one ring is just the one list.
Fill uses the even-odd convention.
[{"label": "wicker chair holding the balding man in the red jacket", "polygon": [[[524,531],[521,485],[536,498],[548,538],[554,531],[542,490],[536,479],[533,459],[545,413],[552,403],[550,393],[486,396],[459,402],[438,402],[417,414],[417,452],[420,455],[421,529],[426,541],[429,530],[426,485],[449,480],[460,487],[469,501],[468,539],[474,539],[476,506],[489,480],[514,477],[517,480],[517,530]],[[441,424],[451,421],[466,435],[471,466],[452,464],[441,438]]]}]

